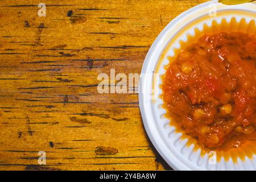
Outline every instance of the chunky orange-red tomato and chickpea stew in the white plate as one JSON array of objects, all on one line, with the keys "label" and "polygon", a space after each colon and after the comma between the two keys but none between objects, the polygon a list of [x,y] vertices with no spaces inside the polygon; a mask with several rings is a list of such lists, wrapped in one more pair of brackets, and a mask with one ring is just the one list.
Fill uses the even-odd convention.
[{"label": "chunky orange-red tomato and chickpea stew in the white plate", "polygon": [[256,38],[242,32],[201,36],[180,51],[163,78],[168,114],[205,148],[255,140]]}]

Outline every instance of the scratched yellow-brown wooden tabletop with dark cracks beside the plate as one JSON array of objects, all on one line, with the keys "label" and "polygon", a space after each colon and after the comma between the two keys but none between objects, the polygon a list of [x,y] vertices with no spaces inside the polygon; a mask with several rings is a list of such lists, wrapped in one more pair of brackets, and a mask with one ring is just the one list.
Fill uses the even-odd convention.
[{"label": "scratched yellow-brown wooden tabletop with dark cracks beside the plate", "polygon": [[39,1],[0,1],[0,169],[171,169],[138,94],[99,94],[97,76],[140,73],[164,26],[204,1],[40,2],[46,17]]}]

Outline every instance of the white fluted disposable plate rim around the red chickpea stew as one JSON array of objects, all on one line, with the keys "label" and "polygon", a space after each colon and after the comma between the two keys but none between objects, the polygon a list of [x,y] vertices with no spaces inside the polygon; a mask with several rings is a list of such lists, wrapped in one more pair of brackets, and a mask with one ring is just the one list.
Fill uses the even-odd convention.
[{"label": "white fluted disposable plate rim around the red chickpea stew", "polygon": [[[217,10],[217,16],[212,11]],[[245,160],[237,159],[237,162],[230,160],[225,161],[224,158],[216,164],[209,163],[208,154],[201,156],[201,149],[195,151],[194,145],[187,147],[187,139],[181,139],[181,133],[175,132],[175,127],[169,125],[169,119],[163,117],[166,110],[161,107],[163,104],[159,93],[155,92],[156,100],[151,100],[151,93],[154,90],[153,79],[159,80],[156,87],[162,83],[160,75],[165,73],[164,65],[169,63],[168,56],[174,56],[174,48],[179,48],[179,40],[184,42],[187,40],[187,34],[194,35],[195,27],[201,30],[203,24],[212,24],[212,20],[218,23],[223,18],[227,22],[232,17],[240,21],[242,18],[246,22],[256,19],[256,3],[245,3],[242,5],[223,5],[218,2],[206,2],[185,11],[172,20],[164,30],[156,38],[150,47],[142,67],[141,80],[139,84],[139,107],[141,109],[142,119],[147,134],[154,144],[156,150],[162,155],[163,159],[174,169],[179,170],[255,170],[256,158],[245,158]],[[193,26],[191,23],[193,22]],[[195,23],[196,22],[196,23]],[[190,28],[189,28],[190,27]],[[185,31],[184,31],[185,29]],[[177,32],[184,31],[178,38]],[[170,42],[171,45],[170,45]],[[166,51],[167,50],[167,51]],[[163,51],[165,55],[163,56]],[[159,61],[160,56],[162,61]],[[153,78],[153,73],[159,73]]]}]

